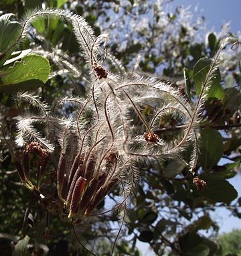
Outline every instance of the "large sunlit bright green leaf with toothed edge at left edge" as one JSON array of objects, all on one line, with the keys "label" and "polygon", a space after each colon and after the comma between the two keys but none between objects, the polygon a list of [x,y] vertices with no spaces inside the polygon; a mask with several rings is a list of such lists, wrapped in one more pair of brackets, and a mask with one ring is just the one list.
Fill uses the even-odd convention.
[{"label": "large sunlit bright green leaf with toothed edge at left edge", "polygon": [[[42,56],[31,54],[22,58],[20,62],[15,62],[13,66],[3,70],[1,75],[2,86],[9,84],[19,84],[27,80],[40,80],[46,82],[50,74],[50,64]],[[4,88],[5,89],[5,88]]]}]

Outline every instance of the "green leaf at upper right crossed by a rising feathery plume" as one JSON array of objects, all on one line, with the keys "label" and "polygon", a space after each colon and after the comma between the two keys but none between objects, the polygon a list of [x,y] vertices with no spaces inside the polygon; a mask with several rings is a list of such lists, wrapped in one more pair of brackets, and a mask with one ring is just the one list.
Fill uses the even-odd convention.
[{"label": "green leaf at upper right crossed by a rising feathery plume", "polygon": [[[206,81],[206,76],[210,70],[211,63],[212,61],[210,59],[201,58],[193,67],[193,80],[197,95],[200,94],[202,86]],[[212,78],[210,78],[210,81],[208,98],[215,97],[217,99],[224,99],[224,91],[220,86],[221,75],[219,68],[216,68],[216,70],[212,73]]]}]

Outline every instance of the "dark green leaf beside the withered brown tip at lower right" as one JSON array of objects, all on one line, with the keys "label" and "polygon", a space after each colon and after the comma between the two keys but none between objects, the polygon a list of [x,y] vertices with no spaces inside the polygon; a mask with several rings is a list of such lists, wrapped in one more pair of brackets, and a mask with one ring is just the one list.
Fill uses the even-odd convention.
[{"label": "dark green leaf beside the withered brown tip at lower right", "polygon": [[225,202],[229,204],[238,196],[238,192],[227,180],[220,178],[218,173],[201,176],[207,183],[202,192],[202,196],[210,203]]}]

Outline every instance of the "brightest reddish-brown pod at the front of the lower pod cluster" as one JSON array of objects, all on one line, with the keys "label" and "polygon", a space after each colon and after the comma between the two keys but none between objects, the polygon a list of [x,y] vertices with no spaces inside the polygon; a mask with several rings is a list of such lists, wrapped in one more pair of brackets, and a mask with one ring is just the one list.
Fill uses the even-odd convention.
[{"label": "brightest reddish-brown pod at the front of the lower pod cluster", "polygon": [[70,213],[68,214],[68,218],[71,218],[72,215],[76,212],[76,209],[78,207],[78,202],[80,201],[81,194],[84,189],[85,183],[86,183],[85,178],[83,178],[83,177],[78,178],[78,180],[74,186],[74,190],[73,190],[73,194],[72,194],[72,198],[71,198],[71,202],[70,202]]}]

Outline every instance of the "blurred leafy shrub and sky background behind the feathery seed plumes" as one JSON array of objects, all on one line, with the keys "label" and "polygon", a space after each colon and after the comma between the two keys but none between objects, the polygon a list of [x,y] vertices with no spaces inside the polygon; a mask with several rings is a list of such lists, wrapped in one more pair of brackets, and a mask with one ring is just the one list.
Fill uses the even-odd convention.
[{"label": "blurred leafy shrub and sky background behind the feathery seed plumes", "polygon": [[[15,13],[12,19],[19,20],[28,8],[42,6],[42,3],[48,7],[68,8],[83,15],[94,27],[96,36],[105,32],[110,34],[108,51],[125,68],[132,69],[137,63],[137,72],[159,76],[163,81],[170,80],[179,88],[180,94],[193,103],[199,90],[198,81],[193,77],[193,67],[200,58],[212,58],[218,50],[220,38],[230,36],[226,27],[220,33],[208,33],[202,19],[193,22],[185,8],[179,7],[168,13],[165,1],[2,0],[1,11]],[[60,50],[71,56],[73,67],[80,73],[60,66],[67,75],[56,76],[59,67],[49,58],[53,78],[47,82],[43,78],[44,85],[31,82],[37,88],[35,92],[48,103],[66,94],[84,94],[82,76],[86,70],[72,28],[58,20],[41,20],[33,27],[17,50],[31,48],[35,54],[51,52],[53,48]],[[202,36],[204,31],[206,42]],[[212,94],[208,95],[199,124],[202,148],[197,173],[206,180],[207,188],[198,191],[185,166],[178,161],[155,161],[139,166],[140,184],[129,205],[126,227],[114,251],[116,255],[139,255],[137,241],[149,244],[157,255],[225,255],[225,249],[222,250],[214,242],[215,239],[208,239],[199,231],[208,231],[211,237],[216,237],[218,223],[210,215],[216,208],[224,207],[230,214],[238,218],[241,216],[240,200],[236,198],[235,188],[228,182],[240,168],[240,49],[234,51],[227,46],[218,65],[220,77],[214,84]],[[201,69],[198,66],[195,68],[197,71]],[[1,87],[1,123],[14,139],[15,119],[19,113],[9,92],[16,86],[24,90],[27,84],[21,84],[19,80],[15,83],[7,81],[2,76],[0,87],[15,86]],[[72,113],[72,108],[66,107],[62,111]],[[135,125],[139,127],[138,119]],[[173,117],[166,117],[159,125],[160,136],[171,139],[178,125]],[[207,129],[210,127],[215,129]],[[4,254],[11,255],[13,251],[13,254],[19,255],[19,250],[27,250],[29,245],[29,251],[39,255],[88,255],[76,241],[70,225],[51,216],[50,225],[46,226],[46,213],[19,183],[13,159],[3,139],[1,154],[0,245]],[[187,158],[188,154],[187,151]],[[229,159],[230,164],[220,164],[221,158]],[[54,168],[53,164],[52,170]],[[50,175],[46,177],[48,182],[52,182]],[[110,198],[117,195],[118,191],[114,190]],[[109,200],[99,207],[109,204]],[[119,219],[120,216],[114,214],[90,218],[76,228],[78,237],[91,251],[108,255],[118,232]]]}]

